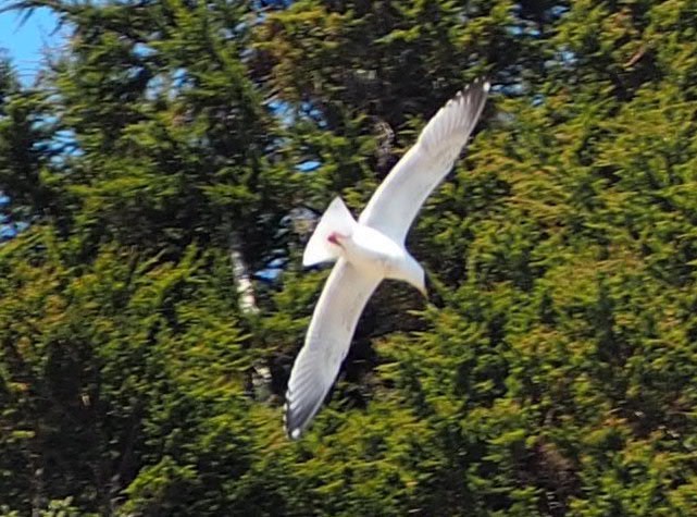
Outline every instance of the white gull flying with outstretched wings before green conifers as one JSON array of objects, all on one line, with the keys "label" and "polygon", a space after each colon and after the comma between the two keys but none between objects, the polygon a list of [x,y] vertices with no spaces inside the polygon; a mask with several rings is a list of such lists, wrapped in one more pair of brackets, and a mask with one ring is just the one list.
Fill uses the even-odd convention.
[{"label": "white gull flying with outstretched wings before green conifers", "polygon": [[459,91],[428,121],[416,144],[397,162],[353,219],[336,197],[318,223],[303,266],[336,261],[312,315],[286,392],[285,426],[299,439],[334,384],[363,308],[384,279],[408,282],[424,296],[423,268],[404,239],[431,192],[450,172],[482,114],[489,83]]}]

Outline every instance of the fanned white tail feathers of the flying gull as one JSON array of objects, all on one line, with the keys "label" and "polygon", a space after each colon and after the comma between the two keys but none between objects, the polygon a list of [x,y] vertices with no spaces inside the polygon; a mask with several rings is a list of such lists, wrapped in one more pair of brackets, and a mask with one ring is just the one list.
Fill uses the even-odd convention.
[{"label": "fanned white tail feathers of the flying gull", "polygon": [[302,266],[314,266],[315,263],[336,260],[341,248],[329,242],[329,235],[336,232],[344,236],[353,233],[358,223],[340,197],[335,197],[326,209],[322,219],[314,229],[314,233],[308,241],[302,255]]}]

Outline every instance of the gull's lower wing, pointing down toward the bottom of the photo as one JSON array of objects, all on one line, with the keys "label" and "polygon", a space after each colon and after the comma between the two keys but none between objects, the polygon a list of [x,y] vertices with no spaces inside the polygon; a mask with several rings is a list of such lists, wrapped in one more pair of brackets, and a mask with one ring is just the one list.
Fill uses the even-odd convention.
[{"label": "gull's lower wing, pointing down toward the bottom of the photo", "polygon": [[343,258],[334,266],[288,381],[285,420],[291,439],[300,438],[320,409],[348,353],[365,303],[381,281],[360,273]]}]

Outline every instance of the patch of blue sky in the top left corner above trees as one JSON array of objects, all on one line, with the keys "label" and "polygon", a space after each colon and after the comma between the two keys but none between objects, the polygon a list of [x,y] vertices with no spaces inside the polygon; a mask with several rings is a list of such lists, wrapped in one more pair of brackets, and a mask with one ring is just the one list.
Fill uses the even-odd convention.
[{"label": "patch of blue sky in the top left corner above trees", "polygon": [[41,64],[41,49],[60,45],[60,33],[53,34],[58,19],[48,9],[36,9],[22,24],[23,14],[0,13],[0,49],[5,49],[20,78],[32,83]]}]

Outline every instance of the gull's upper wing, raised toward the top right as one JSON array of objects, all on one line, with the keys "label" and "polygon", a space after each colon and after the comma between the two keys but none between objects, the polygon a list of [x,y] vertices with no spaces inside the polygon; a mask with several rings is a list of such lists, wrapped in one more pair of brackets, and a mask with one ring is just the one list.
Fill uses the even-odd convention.
[{"label": "gull's upper wing, raised toward the top right", "polygon": [[450,172],[466,144],[488,91],[487,82],[475,82],[438,110],[377,187],[360,223],[403,242],[426,197]]}]

